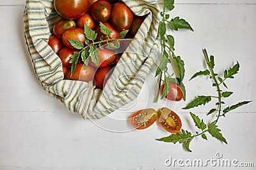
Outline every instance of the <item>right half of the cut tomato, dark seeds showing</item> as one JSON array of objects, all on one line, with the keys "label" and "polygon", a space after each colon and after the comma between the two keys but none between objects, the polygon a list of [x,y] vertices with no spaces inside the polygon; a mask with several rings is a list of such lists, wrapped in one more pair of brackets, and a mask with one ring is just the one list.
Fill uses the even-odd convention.
[{"label": "right half of the cut tomato, dark seeds showing", "polygon": [[168,132],[177,133],[181,129],[181,121],[179,116],[168,108],[161,108],[157,111],[159,123]]}]

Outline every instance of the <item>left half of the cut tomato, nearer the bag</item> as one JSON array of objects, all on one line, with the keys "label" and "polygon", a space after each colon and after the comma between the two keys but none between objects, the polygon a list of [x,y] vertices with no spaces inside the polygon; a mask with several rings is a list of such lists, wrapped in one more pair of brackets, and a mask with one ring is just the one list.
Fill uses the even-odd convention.
[{"label": "left half of the cut tomato, nearer the bag", "polygon": [[131,125],[136,129],[146,129],[157,119],[157,112],[154,109],[140,110],[131,116]]}]

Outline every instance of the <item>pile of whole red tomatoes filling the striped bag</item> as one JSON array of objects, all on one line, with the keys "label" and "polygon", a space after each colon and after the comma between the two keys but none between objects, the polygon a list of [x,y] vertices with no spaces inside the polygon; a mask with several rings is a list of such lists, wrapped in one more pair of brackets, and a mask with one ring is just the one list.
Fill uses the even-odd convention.
[{"label": "pile of whole red tomatoes filling the striped bag", "polygon": [[[49,38],[48,44],[61,59],[65,79],[87,82],[94,79],[97,87],[102,89],[122,53],[118,54],[115,50],[106,48],[99,50],[99,65],[90,59],[89,65],[85,66],[79,60],[71,75],[70,57],[79,50],[75,49],[68,39],[76,39],[84,44],[84,24],[97,33],[95,41],[107,39],[100,31],[100,22],[111,31],[109,39],[119,39],[120,32],[128,29],[125,38],[134,38],[144,17],[134,15],[125,3],[118,0],[54,0],[54,8],[61,19],[54,24],[54,34]],[[127,47],[124,43],[121,45],[123,46],[120,48]]]}]

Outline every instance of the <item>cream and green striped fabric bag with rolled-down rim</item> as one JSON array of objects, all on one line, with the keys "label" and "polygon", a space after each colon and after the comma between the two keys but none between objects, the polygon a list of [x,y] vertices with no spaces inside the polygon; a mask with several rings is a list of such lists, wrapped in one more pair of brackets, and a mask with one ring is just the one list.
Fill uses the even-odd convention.
[{"label": "cream and green striped fabric bag with rolled-down rim", "polygon": [[[36,77],[46,92],[84,118],[102,118],[134,100],[157,59],[159,6],[156,0],[124,0],[135,15],[147,15],[123,53],[103,90],[93,81],[63,80],[61,60],[47,44],[54,23],[60,19],[53,0],[27,0],[24,34]],[[141,43],[143,42],[143,43]]]}]

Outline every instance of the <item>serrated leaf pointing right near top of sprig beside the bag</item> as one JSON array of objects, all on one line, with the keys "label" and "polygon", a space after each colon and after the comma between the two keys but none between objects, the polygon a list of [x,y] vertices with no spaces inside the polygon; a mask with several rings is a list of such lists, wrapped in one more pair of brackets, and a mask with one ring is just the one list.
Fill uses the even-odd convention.
[{"label": "serrated leaf pointing right near top of sprig beside the bag", "polygon": [[170,27],[170,29],[175,31],[177,31],[178,29],[190,29],[191,31],[194,31],[189,23],[180,17],[172,18],[172,20],[170,20],[170,22],[168,23],[168,26]]}]

